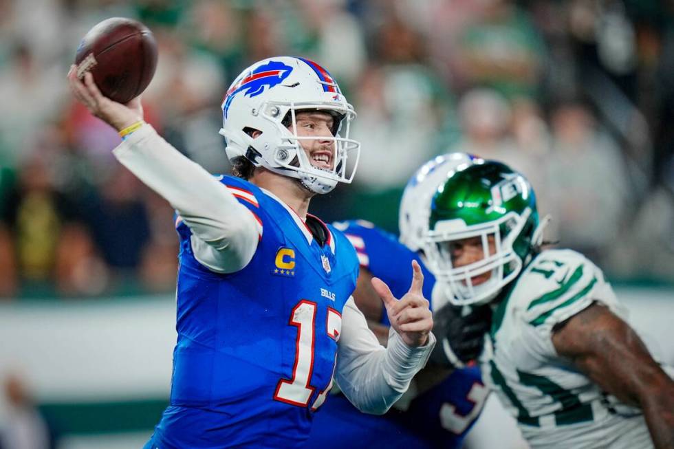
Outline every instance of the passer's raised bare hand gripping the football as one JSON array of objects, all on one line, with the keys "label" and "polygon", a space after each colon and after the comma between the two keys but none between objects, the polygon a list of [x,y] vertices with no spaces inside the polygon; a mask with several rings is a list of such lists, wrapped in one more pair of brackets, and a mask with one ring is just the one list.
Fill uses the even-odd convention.
[{"label": "passer's raised bare hand gripping the football", "polygon": [[140,97],[133,98],[126,105],[110,100],[100,93],[96,83],[94,83],[94,77],[89,72],[86,72],[83,80],[80,80],[77,77],[75,65],[70,66],[68,85],[73,96],[85,105],[92,115],[100,118],[117,131],[121,131],[143,119]]}]

